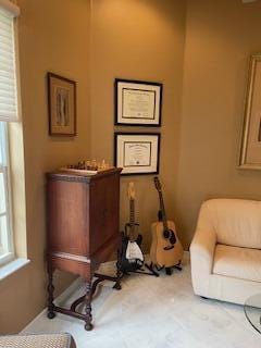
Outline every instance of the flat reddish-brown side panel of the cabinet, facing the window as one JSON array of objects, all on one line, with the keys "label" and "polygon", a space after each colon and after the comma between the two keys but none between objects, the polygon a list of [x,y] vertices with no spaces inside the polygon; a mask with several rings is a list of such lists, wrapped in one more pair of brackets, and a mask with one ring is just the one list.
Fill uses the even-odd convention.
[{"label": "flat reddish-brown side panel of the cabinet, facing the window", "polygon": [[52,251],[87,256],[88,206],[85,183],[49,181],[48,239]]}]

